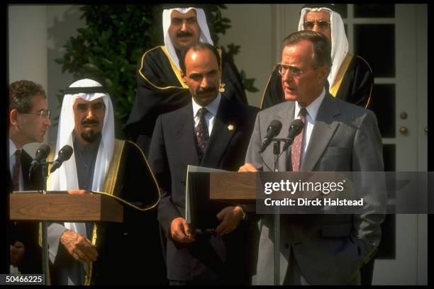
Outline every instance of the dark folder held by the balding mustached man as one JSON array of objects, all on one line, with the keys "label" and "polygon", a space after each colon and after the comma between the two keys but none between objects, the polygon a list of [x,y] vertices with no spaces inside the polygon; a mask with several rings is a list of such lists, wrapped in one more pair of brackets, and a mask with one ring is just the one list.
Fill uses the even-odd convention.
[{"label": "dark folder held by the balding mustached man", "polygon": [[203,166],[187,167],[185,219],[194,229],[212,230],[220,221],[216,215],[229,203],[209,199],[209,173],[227,172]]}]

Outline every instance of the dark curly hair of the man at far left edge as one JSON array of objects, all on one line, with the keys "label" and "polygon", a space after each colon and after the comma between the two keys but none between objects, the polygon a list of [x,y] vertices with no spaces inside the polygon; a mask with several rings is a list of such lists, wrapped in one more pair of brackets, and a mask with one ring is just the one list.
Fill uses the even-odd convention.
[{"label": "dark curly hair of the man at far left edge", "polygon": [[30,80],[19,80],[9,84],[9,111],[16,109],[19,113],[29,113],[33,108],[35,96],[47,98],[43,86]]}]

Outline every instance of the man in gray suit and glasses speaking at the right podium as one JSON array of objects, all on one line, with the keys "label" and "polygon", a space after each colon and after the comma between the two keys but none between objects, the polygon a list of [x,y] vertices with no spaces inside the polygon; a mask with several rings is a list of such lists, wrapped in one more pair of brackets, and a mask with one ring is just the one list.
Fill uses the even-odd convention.
[{"label": "man in gray suit and glasses speaking at the right podium", "polygon": [[[257,115],[246,164],[240,171],[266,171],[265,164],[274,161],[272,146],[262,156],[259,153],[267,125],[279,120],[282,130],[277,137],[286,137],[295,118],[304,122],[304,130],[279,159],[279,171],[383,170],[377,119],[372,111],[325,91],[330,64],[330,44],[324,35],[299,31],[284,40],[279,73],[289,101]],[[369,193],[367,185],[362,182],[357,189]],[[360,284],[360,268],[379,245],[383,220],[384,215],[372,213],[282,215],[279,284]],[[258,284],[273,283],[272,230],[272,215],[265,215],[261,220]]]}]

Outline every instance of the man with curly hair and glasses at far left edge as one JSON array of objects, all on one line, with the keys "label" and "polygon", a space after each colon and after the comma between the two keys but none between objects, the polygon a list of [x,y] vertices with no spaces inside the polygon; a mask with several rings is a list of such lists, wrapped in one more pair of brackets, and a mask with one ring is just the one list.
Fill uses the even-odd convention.
[{"label": "man with curly hair and glasses at far left edge", "polygon": [[[9,85],[9,169],[13,191],[43,189],[41,169],[29,177],[33,158],[23,149],[43,142],[51,125],[47,96],[40,84],[15,81]],[[41,273],[42,252],[38,246],[38,222],[10,222],[11,265],[21,273]]]}]

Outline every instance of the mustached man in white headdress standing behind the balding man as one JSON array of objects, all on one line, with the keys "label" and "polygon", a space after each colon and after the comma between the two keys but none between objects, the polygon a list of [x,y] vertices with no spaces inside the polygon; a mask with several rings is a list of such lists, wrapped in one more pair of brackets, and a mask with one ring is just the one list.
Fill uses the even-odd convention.
[{"label": "mustached man in white headdress standing behind the balding man", "polygon": [[[190,5],[166,8],[162,12],[162,28],[165,45],[148,50],[138,60],[135,103],[126,123],[128,135],[147,156],[158,115],[191,102],[189,89],[180,72],[185,52],[198,42],[213,45],[203,8]],[[240,74],[224,53],[221,67],[221,94],[232,101],[247,104]]]}]

